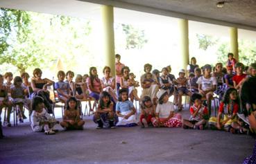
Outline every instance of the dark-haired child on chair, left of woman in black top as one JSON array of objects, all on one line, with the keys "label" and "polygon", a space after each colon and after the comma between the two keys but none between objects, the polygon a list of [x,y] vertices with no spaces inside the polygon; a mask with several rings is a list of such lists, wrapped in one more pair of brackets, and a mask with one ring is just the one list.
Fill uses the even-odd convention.
[{"label": "dark-haired child on chair, left of woman in black top", "polygon": [[26,98],[26,87],[22,86],[22,78],[16,76],[13,83],[14,86],[10,88],[11,97],[13,98],[13,103],[19,106],[19,122],[23,122],[23,120],[26,119],[23,109],[24,104],[26,104],[26,107],[28,107],[28,111],[31,111],[31,101]]}]

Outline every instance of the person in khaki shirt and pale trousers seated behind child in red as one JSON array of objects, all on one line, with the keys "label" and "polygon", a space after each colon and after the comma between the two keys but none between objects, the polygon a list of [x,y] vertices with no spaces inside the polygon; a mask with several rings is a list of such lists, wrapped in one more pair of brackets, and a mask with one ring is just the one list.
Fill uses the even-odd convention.
[{"label": "person in khaki shirt and pale trousers seated behind child in red", "polygon": [[[157,84],[157,80],[155,78],[155,75],[152,75],[152,80],[154,82],[151,83],[150,86],[147,86],[144,82],[145,76],[147,73],[151,73],[152,65],[151,64],[145,64],[144,65],[144,74],[140,78],[140,82],[142,84],[142,95],[141,98],[143,98],[145,95],[148,95],[153,102],[156,100],[156,93],[159,90],[159,86]],[[152,74],[152,73],[151,73]]]}]

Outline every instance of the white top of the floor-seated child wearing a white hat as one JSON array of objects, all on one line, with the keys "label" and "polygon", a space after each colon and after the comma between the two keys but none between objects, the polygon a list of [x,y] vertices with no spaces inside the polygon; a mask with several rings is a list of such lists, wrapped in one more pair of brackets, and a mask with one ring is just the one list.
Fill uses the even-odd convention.
[{"label": "white top of the floor-seated child wearing a white hat", "polygon": [[155,109],[155,113],[159,113],[159,118],[168,118],[171,111],[174,111],[174,105],[172,102],[157,104]]}]

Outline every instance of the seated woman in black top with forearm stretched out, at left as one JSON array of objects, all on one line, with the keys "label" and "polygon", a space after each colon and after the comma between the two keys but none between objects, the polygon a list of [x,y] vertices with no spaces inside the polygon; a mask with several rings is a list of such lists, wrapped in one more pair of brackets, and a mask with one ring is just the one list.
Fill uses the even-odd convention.
[{"label": "seated woman in black top with forearm stretched out, at left", "polygon": [[42,79],[42,71],[41,69],[35,69],[33,71],[33,78],[31,79],[31,86],[33,89],[32,98],[36,95],[40,95],[44,99],[44,105],[48,111],[48,113],[53,113],[52,104],[53,102],[50,99],[50,93],[47,90],[47,86],[51,86],[53,84],[52,80],[47,78]]}]

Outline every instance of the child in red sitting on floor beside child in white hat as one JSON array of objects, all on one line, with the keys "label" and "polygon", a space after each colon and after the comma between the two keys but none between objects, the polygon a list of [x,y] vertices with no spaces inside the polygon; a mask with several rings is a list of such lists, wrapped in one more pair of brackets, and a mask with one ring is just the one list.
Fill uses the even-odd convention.
[{"label": "child in red sitting on floor beside child in white hat", "polygon": [[148,95],[145,95],[142,98],[142,110],[139,116],[142,127],[148,127],[148,124],[151,123],[151,120],[155,119],[154,117],[155,105],[153,105],[151,98]]}]

